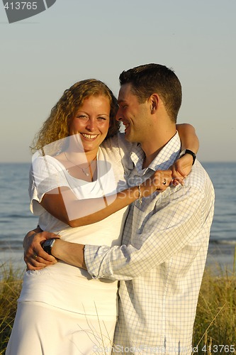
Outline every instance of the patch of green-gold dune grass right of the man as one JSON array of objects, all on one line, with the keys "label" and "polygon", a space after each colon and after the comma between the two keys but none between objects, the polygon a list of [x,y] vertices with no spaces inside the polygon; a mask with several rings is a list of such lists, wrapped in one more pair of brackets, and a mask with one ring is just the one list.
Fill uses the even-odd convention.
[{"label": "patch of green-gold dune grass right of the man", "polygon": [[196,354],[236,354],[236,274],[206,268],[193,328]]}]

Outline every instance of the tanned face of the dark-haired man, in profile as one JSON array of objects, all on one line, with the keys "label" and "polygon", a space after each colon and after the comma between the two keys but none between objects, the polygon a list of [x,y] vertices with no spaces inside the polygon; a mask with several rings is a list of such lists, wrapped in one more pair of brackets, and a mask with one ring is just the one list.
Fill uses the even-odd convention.
[{"label": "tanned face of the dark-haired man, in profile", "polygon": [[142,143],[148,138],[145,133],[148,129],[147,116],[150,115],[150,104],[148,102],[140,104],[131,88],[131,84],[120,87],[116,119],[123,122],[127,141]]}]

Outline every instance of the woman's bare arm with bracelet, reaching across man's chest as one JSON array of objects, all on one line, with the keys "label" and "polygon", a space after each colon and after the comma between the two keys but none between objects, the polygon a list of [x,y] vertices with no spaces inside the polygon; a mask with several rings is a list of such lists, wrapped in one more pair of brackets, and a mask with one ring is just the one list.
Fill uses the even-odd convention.
[{"label": "woman's bare arm with bracelet, reaching across man's chest", "polygon": [[[163,182],[166,183],[163,185]],[[78,200],[68,187],[60,187],[45,194],[40,204],[52,216],[69,226],[85,226],[105,219],[139,197],[146,197],[156,190],[166,190],[170,182],[172,170],[159,170],[140,185],[140,191],[139,187],[135,186],[116,195]]]}]

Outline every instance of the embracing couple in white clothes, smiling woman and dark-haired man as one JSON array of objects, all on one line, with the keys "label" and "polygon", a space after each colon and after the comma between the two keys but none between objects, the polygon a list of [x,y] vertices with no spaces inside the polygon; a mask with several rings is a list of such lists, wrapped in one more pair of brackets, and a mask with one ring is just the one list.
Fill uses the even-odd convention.
[{"label": "embracing couple in white clothes, smiling woman and dark-haired man", "polygon": [[118,101],[83,80],[52,108],[6,355],[191,354],[214,190],[180,107],[173,70],[148,64],[120,74]]}]

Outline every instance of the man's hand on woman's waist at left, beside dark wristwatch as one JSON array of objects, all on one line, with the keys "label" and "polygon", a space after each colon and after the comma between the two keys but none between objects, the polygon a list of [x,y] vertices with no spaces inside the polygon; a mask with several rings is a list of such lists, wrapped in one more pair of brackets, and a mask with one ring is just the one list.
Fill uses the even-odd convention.
[{"label": "man's hand on woman's waist at left, beside dark wristwatch", "polygon": [[58,238],[60,236],[49,231],[42,231],[40,228],[29,231],[26,234],[23,240],[23,248],[27,270],[40,270],[57,263],[57,259],[47,254],[41,246],[41,243],[46,239],[55,237]]}]

